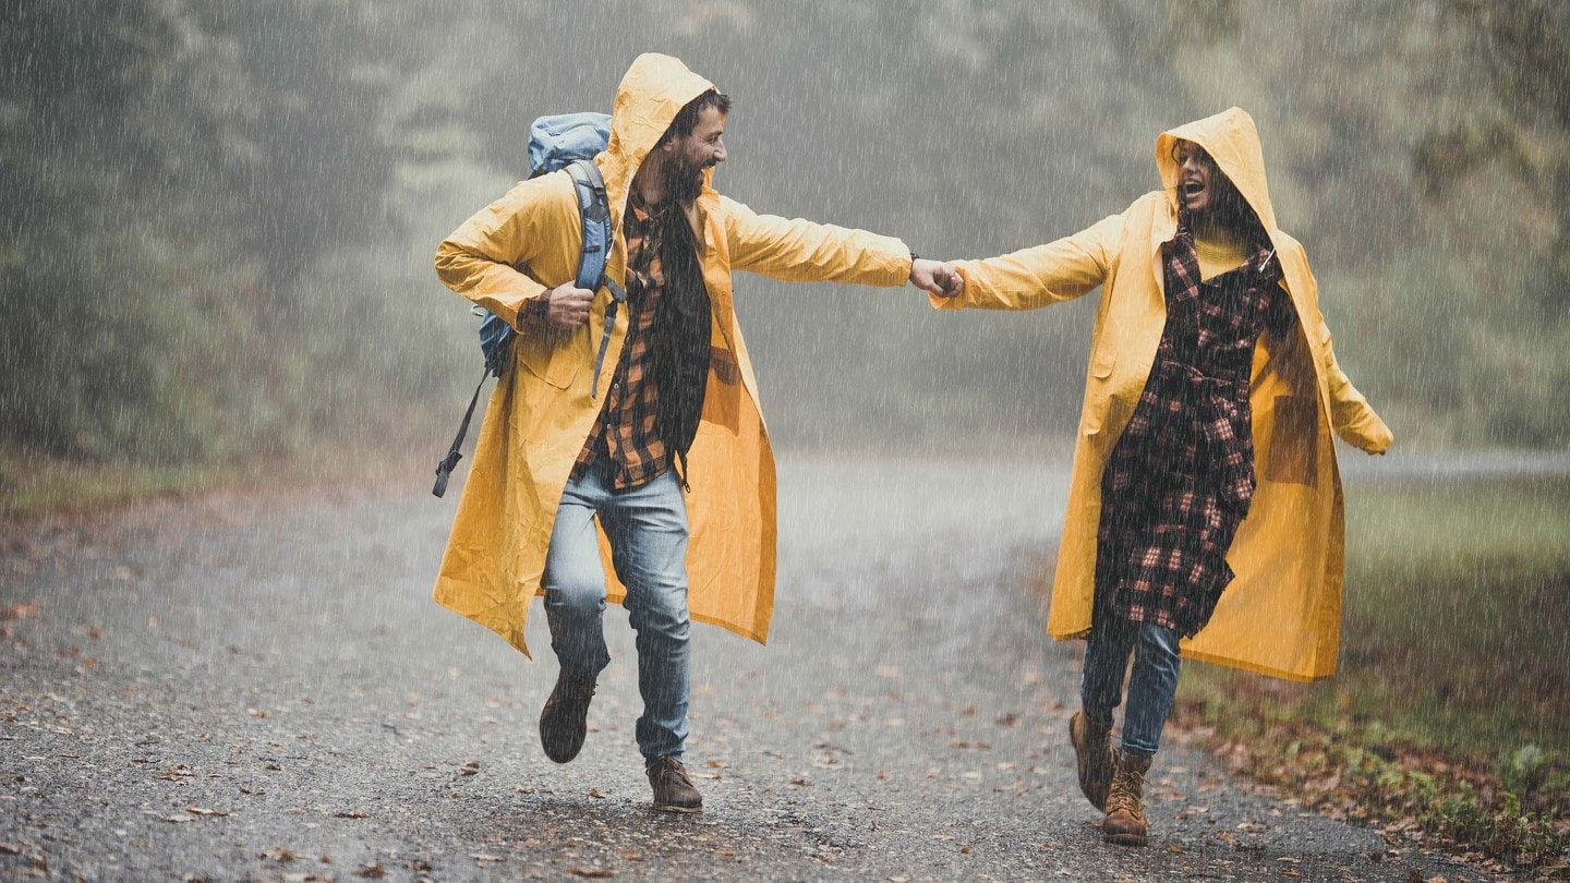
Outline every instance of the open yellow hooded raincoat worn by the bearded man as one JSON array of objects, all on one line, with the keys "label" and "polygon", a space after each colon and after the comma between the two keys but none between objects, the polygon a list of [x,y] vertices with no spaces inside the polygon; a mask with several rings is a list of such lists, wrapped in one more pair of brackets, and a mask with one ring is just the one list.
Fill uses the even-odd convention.
[{"label": "open yellow hooded raincoat worn by the bearded man", "polygon": [[[633,176],[677,112],[714,86],[666,55],[641,55],[615,91],[611,145],[595,157],[604,176],[615,244],[606,275],[626,278],[622,215]],[[713,306],[713,360],[697,438],[688,452],[691,542],[688,605],[694,619],[763,641],[774,610],[774,454],[757,380],[732,300],[732,270],[788,281],[904,284],[911,251],[865,231],[757,215],[714,192],[706,178],[688,211]],[[582,233],[565,171],[520,182],[447,237],[436,273],[449,288],[518,327],[518,311],[578,272]],[[573,460],[603,402],[590,396],[595,352],[611,294],[595,294],[587,325],[551,343],[534,327],[513,344],[491,394],[463,487],[435,599],[528,654],[523,624],[540,591],[551,525]],[[611,383],[626,314],[612,325],[598,382]],[[601,550],[608,550],[601,534]],[[606,573],[614,569],[606,558]],[[609,599],[625,588],[608,577]]]}]

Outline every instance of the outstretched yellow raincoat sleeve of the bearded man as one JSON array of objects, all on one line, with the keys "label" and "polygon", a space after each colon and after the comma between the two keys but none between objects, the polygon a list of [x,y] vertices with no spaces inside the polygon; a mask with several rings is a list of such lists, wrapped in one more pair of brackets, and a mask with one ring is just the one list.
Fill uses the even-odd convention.
[{"label": "outstretched yellow raincoat sleeve of the bearded man", "polygon": [[892,236],[865,229],[760,215],[721,196],[730,267],[810,283],[896,286],[911,277],[911,250]]}]

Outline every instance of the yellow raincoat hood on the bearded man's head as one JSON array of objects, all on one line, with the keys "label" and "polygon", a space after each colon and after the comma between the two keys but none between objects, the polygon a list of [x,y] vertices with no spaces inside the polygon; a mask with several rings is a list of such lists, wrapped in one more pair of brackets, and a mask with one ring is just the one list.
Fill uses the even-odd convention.
[{"label": "yellow raincoat hood on the bearded man's head", "polygon": [[[611,223],[617,229],[622,226],[626,196],[637,168],[653,152],[677,113],[713,88],[713,83],[669,55],[647,52],[633,60],[615,88],[615,104],[611,107],[611,143],[598,157],[604,193],[611,203]],[[705,176],[705,190],[708,181]]]}]

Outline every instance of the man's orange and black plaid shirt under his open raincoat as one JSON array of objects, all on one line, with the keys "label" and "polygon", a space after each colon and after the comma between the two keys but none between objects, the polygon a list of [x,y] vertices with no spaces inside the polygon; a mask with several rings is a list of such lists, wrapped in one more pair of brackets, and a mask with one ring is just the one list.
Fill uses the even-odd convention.
[{"label": "man's orange and black plaid shirt under his open raincoat", "polygon": [[626,344],[611,376],[604,405],[578,452],[571,478],[582,478],[597,457],[611,467],[611,489],[630,490],[655,481],[670,468],[670,451],[655,432],[659,413],[659,385],[653,380],[650,328],[666,284],[659,267],[661,214],[672,204],[650,211],[634,192],[626,214]]}]

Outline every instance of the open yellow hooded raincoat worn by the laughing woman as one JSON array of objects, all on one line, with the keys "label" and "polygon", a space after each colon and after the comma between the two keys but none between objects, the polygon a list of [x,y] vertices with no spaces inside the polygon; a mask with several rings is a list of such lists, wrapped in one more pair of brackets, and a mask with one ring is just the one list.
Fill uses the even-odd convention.
[{"label": "open yellow hooded raincoat worn by the laughing woman", "polygon": [[964,295],[933,303],[1031,310],[1102,288],[1047,614],[1053,638],[1082,638],[1091,624],[1102,470],[1134,416],[1167,324],[1160,250],[1178,229],[1179,140],[1209,151],[1259,215],[1298,316],[1289,339],[1262,335],[1256,344],[1250,404],[1258,489],[1226,556],[1237,578],[1182,655],[1292,680],[1328,677],[1341,638],[1344,551],[1330,431],[1372,454],[1389,446],[1391,434],[1336,365],[1303,247],[1276,226],[1259,135],[1247,113],[1234,107],[1163,132],[1156,140],[1163,190],[1066,239],[961,261]]}]

